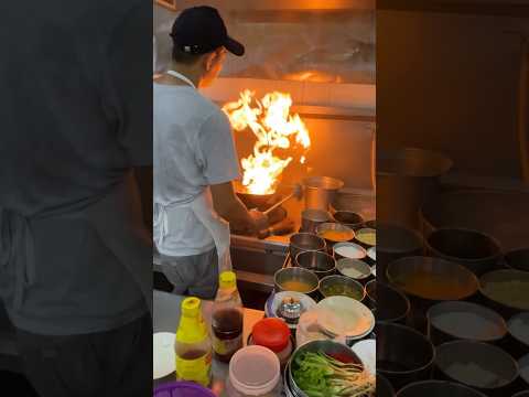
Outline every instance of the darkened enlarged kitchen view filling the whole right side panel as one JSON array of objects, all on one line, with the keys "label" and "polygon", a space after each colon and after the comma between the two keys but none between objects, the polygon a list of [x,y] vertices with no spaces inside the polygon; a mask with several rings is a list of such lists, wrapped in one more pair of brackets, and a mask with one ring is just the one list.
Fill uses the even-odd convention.
[{"label": "darkened enlarged kitchen view filling the whole right side panel", "polygon": [[377,8],[377,371],[398,396],[514,396],[529,388],[529,2]]}]

